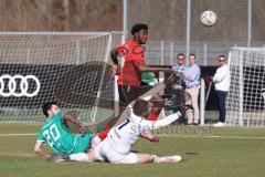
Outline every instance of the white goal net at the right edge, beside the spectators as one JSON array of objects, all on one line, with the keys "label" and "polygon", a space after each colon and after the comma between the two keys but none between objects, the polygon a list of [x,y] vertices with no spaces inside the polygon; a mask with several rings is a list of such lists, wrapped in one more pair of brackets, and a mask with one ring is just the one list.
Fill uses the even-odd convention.
[{"label": "white goal net at the right edge, beside the spectators", "polygon": [[229,61],[231,88],[226,124],[265,126],[265,49],[234,48]]}]

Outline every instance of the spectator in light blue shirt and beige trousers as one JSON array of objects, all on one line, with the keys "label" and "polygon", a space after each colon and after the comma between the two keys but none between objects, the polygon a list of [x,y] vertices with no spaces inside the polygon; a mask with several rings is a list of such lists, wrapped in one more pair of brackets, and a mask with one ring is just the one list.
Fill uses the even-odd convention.
[{"label": "spectator in light blue shirt and beige trousers", "polygon": [[199,124],[198,96],[200,88],[201,69],[195,63],[195,54],[189,55],[189,66],[184,69],[186,82],[186,104],[191,104],[193,112],[187,114],[189,125]]}]

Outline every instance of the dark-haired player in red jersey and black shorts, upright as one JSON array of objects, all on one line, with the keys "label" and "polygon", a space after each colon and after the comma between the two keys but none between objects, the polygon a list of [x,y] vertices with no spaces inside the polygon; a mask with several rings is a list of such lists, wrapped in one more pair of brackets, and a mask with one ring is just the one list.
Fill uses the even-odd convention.
[{"label": "dark-haired player in red jersey and black shorts, upright", "polygon": [[[153,67],[146,65],[145,50],[142,44],[146,44],[148,39],[148,25],[137,23],[131,28],[132,39],[127,40],[123,45],[115,48],[112,51],[113,74],[118,70],[118,56],[123,55],[125,59],[124,65],[118,75],[118,92],[119,102],[128,105],[131,101],[146,93],[151,88],[149,85],[141,85],[142,72],[171,72],[170,67]],[[152,112],[149,115],[150,121],[156,121],[161,112],[161,105],[157,102]],[[161,101],[161,104],[163,102]],[[158,138],[150,134],[142,135],[151,142],[158,142]]]}]

